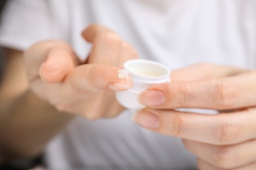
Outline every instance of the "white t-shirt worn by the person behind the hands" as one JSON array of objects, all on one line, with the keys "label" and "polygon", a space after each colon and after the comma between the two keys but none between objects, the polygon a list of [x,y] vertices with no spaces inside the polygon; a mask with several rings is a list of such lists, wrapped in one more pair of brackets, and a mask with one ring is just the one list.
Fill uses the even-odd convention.
[{"label": "white t-shirt worn by the person behind the hands", "polygon": [[[172,69],[192,63],[255,68],[256,1],[252,0],[12,0],[0,44],[24,50],[42,39],[68,41],[85,59],[81,31],[91,23],[114,29],[139,51]],[[47,148],[54,169],[112,166],[193,169],[180,139],[142,129],[123,112],[90,122],[77,117]]]}]

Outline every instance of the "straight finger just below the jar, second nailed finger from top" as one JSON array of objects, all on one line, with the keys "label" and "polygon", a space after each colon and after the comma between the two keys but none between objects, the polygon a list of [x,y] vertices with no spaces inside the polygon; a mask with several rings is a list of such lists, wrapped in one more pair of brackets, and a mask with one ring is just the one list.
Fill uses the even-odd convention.
[{"label": "straight finger just below the jar, second nailed finger from top", "polygon": [[226,145],[255,139],[255,113],[255,109],[215,115],[144,109],[137,112],[133,120],[163,135]]}]

